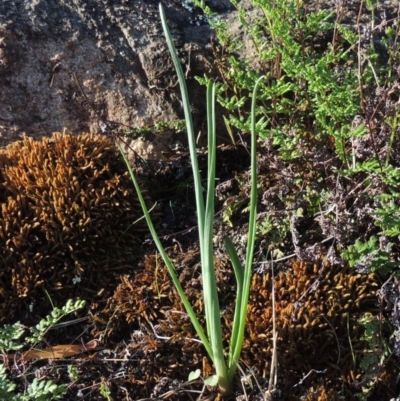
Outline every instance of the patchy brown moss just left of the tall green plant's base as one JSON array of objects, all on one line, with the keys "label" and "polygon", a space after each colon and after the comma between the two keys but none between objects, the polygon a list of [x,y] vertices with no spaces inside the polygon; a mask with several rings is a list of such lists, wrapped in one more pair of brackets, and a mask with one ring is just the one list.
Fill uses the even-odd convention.
[{"label": "patchy brown moss just left of the tall green plant's base", "polygon": [[[179,279],[204,327],[198,250],[182,252],[175,246],[167,252],[176,263]],[[234,296],[231,267],[216,260],[216,268],[221,296]],[[233,301],[231,295],[225,303]],[[130,396],[135,399],[153,394],[154,386],[163,378],[187,380],[188,373],[197,368],[202,369],[204,377],[211,374],[203,346],[193,341],[197,335],[159,255],[146,255],[133,277],[123,276],[107,307],[93,318],[92,336],[106,336],[115,343],[125,339],[124,348],[138,360],[127,372],[132,383]],[[155,336],[150,323],[163,338]],[[132,333],[130,342],[126,342],[127,332]]]}]

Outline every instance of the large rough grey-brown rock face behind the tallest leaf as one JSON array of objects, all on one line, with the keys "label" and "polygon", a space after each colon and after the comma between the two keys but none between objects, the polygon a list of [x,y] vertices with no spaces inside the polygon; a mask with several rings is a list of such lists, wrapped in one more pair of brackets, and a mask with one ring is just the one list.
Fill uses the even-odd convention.
[{"label": "large rough grey-brown rock face behind the tallest leaf", "polygon": [[[188,8],[165,2],[200,105],[193,77],[212,69],[211,30]],[[104,123],[141,127],[181,117],[158,1],[2,0],[0,88],[0,146],[64,128],[99,132]]]}]

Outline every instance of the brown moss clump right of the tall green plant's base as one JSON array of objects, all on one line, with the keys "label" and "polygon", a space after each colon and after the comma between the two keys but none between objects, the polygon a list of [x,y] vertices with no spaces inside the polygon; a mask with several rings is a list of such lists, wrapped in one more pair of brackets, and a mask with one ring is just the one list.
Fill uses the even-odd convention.
[{"label": "brown moss clump right of the tall green plant's base", "polygon": [[[373,274],[347,268],[293,261],[291,269],[275,278],[276,324],[280,369],[295,385],[299,372],[337,369],[346,381],[357,376],[349,338],[355,353],[365,343],[357,319],[376,312],[378,284]],[[272,353],[272,282],[270,274],[254,275],[250,294],[248,340],[244,357],[257,364],[263,377]],[[264,361],[264,362],[262,362]]]}]

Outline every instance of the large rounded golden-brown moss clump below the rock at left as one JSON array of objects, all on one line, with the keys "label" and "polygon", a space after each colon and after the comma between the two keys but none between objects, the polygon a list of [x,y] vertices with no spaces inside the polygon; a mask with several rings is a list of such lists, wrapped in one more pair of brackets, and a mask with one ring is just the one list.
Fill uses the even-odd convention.
[{"label": "large rounded golden-brown moss clump below the rock at left", "polygon": [[132,261],[145,229],[143,221],[131,226],[141,207],[124,161],[102,136],[8,146],[0,201],[0,321],[21,319],[18,308],[43,290],[91,297]]}]

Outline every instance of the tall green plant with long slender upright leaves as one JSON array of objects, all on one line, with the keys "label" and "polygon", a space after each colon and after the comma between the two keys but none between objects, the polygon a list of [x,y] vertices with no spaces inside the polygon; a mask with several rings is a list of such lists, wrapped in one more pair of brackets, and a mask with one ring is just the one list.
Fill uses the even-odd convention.
[{"label": "tall green plant with long slender upright leaves", "polygon": [[[201,326],[191,304],[189,303],[181,283],[176,275],[175,268],[166,253],[161,241],[157,235],[154,225],[151,221],[149,211],[141,194],[138,181],[132,170],[132,167],[124,154],[122,148],[119,149],[128,166],[132,181],[140,200],[144,216],[149,226],[153,240],[160,252],[174,285],[181,297],[184,307],[191,319],[191,322],[202,341],[211,360],[214,363],[216,374],[209,378],[207,384],[218,385],[223,394],[227,394],[232,389],[233,377],[239,360],[245,324],[247,316],[247,304],[250,292],[252,260],[254,253],[255,229],[256,229],[256,206],[257,206],[257,169],[256,169],[256,123],[255,123],[255,101],[257,86],[260,78],[254,87],[252,99],[252,119],[251,119],[251,198],[250,198],[250,220],[248,231],[248,242],[246,251],[245,267],[242,266],[239,256],[229,238],[224,239],[224,245],[234,268],[237,281],[236,308],[232,333],[229,343],[229,354],[227,358],[224,355],[224,345],[222,341],[221,310],[218,300],[217,284],[214,270],[214,250],[213,250],[213,222],[214,222],[214,198],[215,198],[215,169],[216,169],[216,126],[215,126],[215,84],[210,82],[207,87],[207,119],[208,119],[208,172],[207,188],[205,190],[206,199],[204,202],[203,186],[198,167],[196,139],[193,129],[192,116],[190,112],[189,96],[182,67],[180,65],[175,46],[169,32],[164,9],[160,4],[160,16],[167,40],[168,48],[171,53],[175,69],[178,74],[179,85],[183,100],[186,129],[188,135],[190,157],[193,168],[193,178],[196,196],[196,207],[198,217],[198,232],[201,254],[201,269],[203,279],[204,309],[206,319],[206,332]],[[206,334],[207,333],[207,334]]]}]

